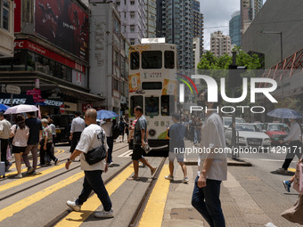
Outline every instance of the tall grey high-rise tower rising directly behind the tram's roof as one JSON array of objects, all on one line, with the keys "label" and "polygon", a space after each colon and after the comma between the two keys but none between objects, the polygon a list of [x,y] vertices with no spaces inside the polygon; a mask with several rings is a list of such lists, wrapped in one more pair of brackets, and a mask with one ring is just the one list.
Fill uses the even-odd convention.
[{"label": "tall grey high-rise tower rising directly behind the tram's roof", "polygon": [[193,69],[192,0],[158,0],[157,34],[176,44],[179,69]]}]

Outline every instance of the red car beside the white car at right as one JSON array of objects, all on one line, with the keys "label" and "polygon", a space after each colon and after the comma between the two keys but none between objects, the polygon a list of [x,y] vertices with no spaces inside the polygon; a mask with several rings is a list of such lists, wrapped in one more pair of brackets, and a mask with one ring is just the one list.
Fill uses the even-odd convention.
[{"label": "red car beside the white car at right", "polygon": [[273,146],[281,145],[280,140],[283,140],[290,133],[290,127],[283,123],[265,123],[263,132],[266,133]]}]

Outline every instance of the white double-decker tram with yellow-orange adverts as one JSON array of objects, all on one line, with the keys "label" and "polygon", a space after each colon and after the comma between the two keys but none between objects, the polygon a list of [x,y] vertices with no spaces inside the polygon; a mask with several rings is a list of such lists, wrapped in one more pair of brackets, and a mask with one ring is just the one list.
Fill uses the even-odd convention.
[{"label": "white double-decker tram with yellow-orange adverts", "polygon": [[159,43],[159,38],[148,40],[129,47],[128,115],[134,121],[134,108],[143,108],[151,156],[167,156],[167,127],[176,111],[176,45]]}]

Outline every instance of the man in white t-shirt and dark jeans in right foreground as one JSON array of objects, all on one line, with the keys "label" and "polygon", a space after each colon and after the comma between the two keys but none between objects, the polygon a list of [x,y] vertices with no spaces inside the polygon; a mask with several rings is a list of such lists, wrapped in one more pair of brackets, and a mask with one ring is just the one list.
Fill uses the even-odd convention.
[{"label": "man in white t-shirt and dark jeans in right foreground", "polygon": [[[218,102],[208,102],[208,92],[204,93],[207,109],[217,109]],[[201,134],[201,149],[199,153],[198,176],[192,192],[192,207],[194,207],[210,226],[225,227],[225,218],[221,208],[220,185],[227,179],[227,156],[222,119],[217,111],[206,112]],[[217,151],[220,152],[217,152]]]}]

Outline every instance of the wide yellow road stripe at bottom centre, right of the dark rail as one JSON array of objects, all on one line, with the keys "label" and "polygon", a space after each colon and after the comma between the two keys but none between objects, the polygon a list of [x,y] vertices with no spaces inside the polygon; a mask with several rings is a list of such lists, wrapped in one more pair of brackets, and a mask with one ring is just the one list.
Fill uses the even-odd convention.
[{"label": "wide yellow road stripe at bottom centre, right of the dark rail", "polygon": [[168,165],[164,165],[143,211],[139,227],[161,227],[164,208],[168,199],[170,182],[165,179],[165,174],[168,172]]}]

